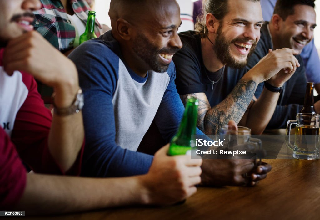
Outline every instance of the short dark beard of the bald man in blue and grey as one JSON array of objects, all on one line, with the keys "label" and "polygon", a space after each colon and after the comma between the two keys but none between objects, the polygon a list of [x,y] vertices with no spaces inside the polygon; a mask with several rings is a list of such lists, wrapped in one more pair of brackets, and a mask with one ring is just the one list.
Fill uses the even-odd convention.
[{"label": "short dark beard of the bald man in blue and grey", "polygon": [[155,72],[163,73],[167,71],[169,64],[163,63],[160,53],[174,54],[178,48],[161,48],[153,45],[144,34],[138,34],[133,41],[133,51]]}]

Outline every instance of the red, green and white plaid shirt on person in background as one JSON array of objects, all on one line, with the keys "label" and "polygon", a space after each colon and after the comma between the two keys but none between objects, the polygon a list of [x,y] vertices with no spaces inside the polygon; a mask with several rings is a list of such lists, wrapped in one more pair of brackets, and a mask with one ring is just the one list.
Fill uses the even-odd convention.
[{"label": "red, green and white plaid shirt on person in background", "polygon": [[[85,0],[69,0],[75,14],[87,23],[90,6]],[[41,0],[41,9],[34,12],[34,28],[62,53],[73,49],[76,31],[60,0]],[[96,20],[95,34],[100,36],[101,28]]]}]

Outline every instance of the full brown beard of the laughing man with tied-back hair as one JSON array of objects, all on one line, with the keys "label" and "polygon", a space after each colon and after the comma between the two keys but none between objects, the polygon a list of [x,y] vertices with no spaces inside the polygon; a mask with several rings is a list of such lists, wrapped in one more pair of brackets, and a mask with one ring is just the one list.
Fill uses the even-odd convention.
[{"label": "full brown beard of the laughing man with tied-back hair", "polygon": [[[230,45],[235,42],[247,43],[251,42],[251,49],[246,57],[245,61],[238,60],[231,55]],[[231,42],[226,40],[224,34],[222,34],[222,23],[220,23],[219,28],[217,30],[217,37],[214,41],[214,46],[212,46],[214,52],[217,54],[218,59],[223,63],[223,65],[227,65],[231,68],[243,68],[247,65],[248,58],[254,49],[257,46],[257,42],[255,40],[251,40],[249,38],[235,38]]]}]

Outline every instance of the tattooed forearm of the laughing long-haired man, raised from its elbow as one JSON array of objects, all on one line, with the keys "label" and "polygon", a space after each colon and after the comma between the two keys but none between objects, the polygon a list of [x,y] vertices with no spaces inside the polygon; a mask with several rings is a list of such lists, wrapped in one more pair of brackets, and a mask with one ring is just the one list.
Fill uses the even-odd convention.
[{"label": "tattooed forearm of the laughing long-haired man, raised from its elbow", "polygon": [[252,80],[240,80],[225,100],[208,111],[204,120],[205,134],[219,134],[221,126],[234,120],[237,124],[247,110],[256,89]]}]

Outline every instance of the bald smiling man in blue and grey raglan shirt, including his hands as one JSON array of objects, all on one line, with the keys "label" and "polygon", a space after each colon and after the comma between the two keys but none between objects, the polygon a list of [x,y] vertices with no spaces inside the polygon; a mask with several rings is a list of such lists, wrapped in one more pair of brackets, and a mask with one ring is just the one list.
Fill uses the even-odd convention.
[{"label": "bald smiling man in blue and grey raglan shirt, including his hands", "polygon": [[[168,143],[184,112],[172,62],[182,47],[177,35],[180,9],[174,0],[112,0],[109,16],[112,30],[69,56],[76,63],[86,101],[82,175],[144,174],[153,156],[137,149],[151,123]],[[197,129],[197,134],[202,132]],[[254,185],[271,169],[256,168],[252,159],[206,164],[202,169],[211,177],[208,185]]]}]

